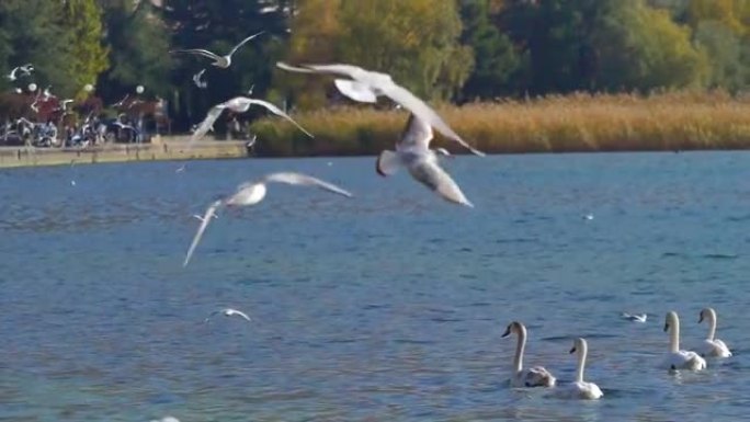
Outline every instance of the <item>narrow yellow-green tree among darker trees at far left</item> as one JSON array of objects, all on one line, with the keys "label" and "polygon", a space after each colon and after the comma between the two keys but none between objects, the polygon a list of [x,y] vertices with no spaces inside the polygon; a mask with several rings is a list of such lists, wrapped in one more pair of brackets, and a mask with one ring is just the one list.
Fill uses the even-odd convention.
[{"label": "narrow yellow-green tree among darker trees at far left", "polygon": [[82,96],[86,95],[83,87],[95,83],[99,75],[109,67],[109,52],[102,45],[102,11],[95,0],[67,0],[63,8],[69,91]]}]

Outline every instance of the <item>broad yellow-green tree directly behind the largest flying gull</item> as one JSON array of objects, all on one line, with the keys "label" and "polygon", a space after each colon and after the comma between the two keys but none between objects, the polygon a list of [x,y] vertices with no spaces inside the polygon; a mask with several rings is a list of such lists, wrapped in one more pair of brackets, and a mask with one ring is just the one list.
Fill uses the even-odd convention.
[{"label": "broad yellow-green tree directly behind the largest flying gull", "polygon": [[462,23],[454,1],[344,0],[338,58],[390,73],[428,99],[450,99],[474,65],[459,44]]}]

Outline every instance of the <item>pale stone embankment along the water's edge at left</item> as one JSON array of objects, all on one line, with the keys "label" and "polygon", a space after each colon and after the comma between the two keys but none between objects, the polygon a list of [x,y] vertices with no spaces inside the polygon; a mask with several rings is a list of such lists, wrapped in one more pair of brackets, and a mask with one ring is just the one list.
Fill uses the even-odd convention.
[{"label": "pale stone embankment along the water's edge at left", "polygon": [[246,158],[245,141],[208,140],[188,148],[185,136],[155,136],[150,144],[115,144],[94,148],[0,147],[0,169],[169,160]]}]

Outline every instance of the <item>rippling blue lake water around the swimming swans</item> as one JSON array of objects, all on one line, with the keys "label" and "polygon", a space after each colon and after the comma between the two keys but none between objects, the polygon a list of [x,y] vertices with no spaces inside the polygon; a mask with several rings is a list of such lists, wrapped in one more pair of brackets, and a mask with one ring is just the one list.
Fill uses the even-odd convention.
[{"label": "rippling blue lake water around the swimming swans", "polygon": [[[750,153],[447,160],[474,209],[377,176],[374,158],[179,167],[0,171],[0,421],[747,417]],[[273,185],[221,212],[183,269],[192,215],[277,170],[355,197]],[[203,323],[225,306],[252,323]],[[664,313],[680,313],[691,347],[704,306],[735,356],[659,369]],[[586,378],[604,398],[509,388],[514,319],[526,365],[561,384],[571,339],[587,338]]]}]

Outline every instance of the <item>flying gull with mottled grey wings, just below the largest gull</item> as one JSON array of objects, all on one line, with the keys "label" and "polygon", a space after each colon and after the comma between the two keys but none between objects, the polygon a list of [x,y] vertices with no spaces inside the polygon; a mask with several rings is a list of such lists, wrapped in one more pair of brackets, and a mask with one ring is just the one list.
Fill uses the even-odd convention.
[{"label": "flying gull with mottled grey wings, just below the largest gull", "polygon": [[396,151],[380,152],[375,170],[382,176],[387,176],[396,173],[399,167],[406,167],[414,180],[434,191],[443,199],[474,207],[456,182],[440,167],[438,153],[430,149],[430,140],[432,127],[416,115],[409,115],[401,139],[396,142]]}]

